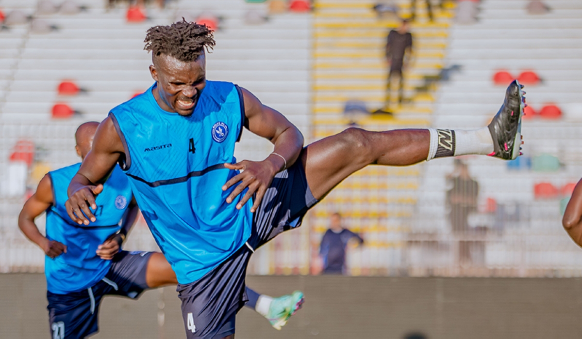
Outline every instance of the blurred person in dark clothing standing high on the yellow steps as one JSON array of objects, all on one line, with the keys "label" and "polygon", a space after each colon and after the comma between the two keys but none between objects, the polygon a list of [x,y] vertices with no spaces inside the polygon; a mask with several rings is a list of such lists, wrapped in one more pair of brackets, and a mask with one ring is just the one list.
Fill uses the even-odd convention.
[{"label": "blurred person in dark clothing standing high on the yellow steps", "polygon": [[402,24],[397,30],[392,30],[388,34],[386,41],[386,60],[390,66],[388,72],[388,82],[386,84],[386,102],[385,111],[389,111],[391,102],[391,84],[392,78],[397,75],[399,78],[398,85],[398,102],[402,104],[404,92],[403,68],[406,68],[412,56],[412,34],[409,32],[409,22],[402,20]]}]

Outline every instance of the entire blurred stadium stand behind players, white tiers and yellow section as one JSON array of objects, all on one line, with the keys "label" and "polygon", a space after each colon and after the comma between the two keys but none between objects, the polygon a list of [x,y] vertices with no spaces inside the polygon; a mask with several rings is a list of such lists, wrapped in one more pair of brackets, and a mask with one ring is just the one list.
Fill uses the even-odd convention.
[{"label": "entire blurred stadium stand behind players, white tiers and yellow section", "polygon": [[[249,89],[282,111],[307,142],[342,131],[350,122],[376,130],[480,127],[499,109],[500,89],[514,76],[531,70],[543,80],[527,88],[532,107],[523,127],[526,156],[507,163],[464,159],[480,184],[478,213],[469,218],[475,232],[450,232],[445,176],[452,160],[371,167],[338,186],[300,230],[257,251],[249,273],[309,273],[328,217],[339,211],[345,226],[363,233],[367,243],[349,251],[353,275],[582,276],[582,262],[572,255],[577,248],[559,226],[563,187],[576,182],[582,169],[578,1],[550,2],[551,12],[531,16],[526,0],[484,0],[480,20],[471,26],[453,23],[450,2],[435,9],[434,23],[419,6],[412,26],[416,56],[404,86],[409,100],[392,116],[353,117],[343,114],[348,100],[372,110],[382,106],[383,48],[389,28],[398,23],[389,14],[379,16],[372,1],[320,0],[309,12],[293,12],[276,0],[179,0],[164,10],[146,8],[148,20],[138,23],[127,23],[127,8],[105,10],[102,0],[71,1],[78,9],[73,14],[61,5],[58,12],[41,15],[39,3],[0,2],[6,20],[15,11],[26,20],[5,23],[8,28],[0,31],[1,272],[42,269],[41,252],[17,231],[16,213],[48,169],[78,161],[72,135],[80,122],[102,120],[111,107],[151,85],[150,56],[142,50],[145,30],[208,13],[220,25],[217,47],[208,55],[208,78]],[[409,2],[396,3],[400,15],[409,16]],[[247,21],[251,11],[269,13],[269,20]],[[28,16],[44,20],[51,30],[34,34]],[[552,27],[562,28],[562,35],[556,37]],[[506,34],[509,29],[514,34]],[[459,67],[448,73],[448,82],[436,81],[453,66]],[[500,70],[505,80],[496,85],[492,80]],[[70,92],[79,88],[76,95],[59,93],[68,81],[74,85],[67,85]],[[68,118],[54,119],[56,104],[69,107]],[[30,164],[10,160],[22,142],[34,147]],[[236,155],[260,160],[270,147],[245,134]],[[542,154],[551,161],[540,163]],[[24,186],[9,187],[10,182]],[[536,199],[538,183],[549,183],[558,193]],[[475,258],[464,266],[458,260],[462,243]],[[155,248],[143,224],[127,246]]]}]

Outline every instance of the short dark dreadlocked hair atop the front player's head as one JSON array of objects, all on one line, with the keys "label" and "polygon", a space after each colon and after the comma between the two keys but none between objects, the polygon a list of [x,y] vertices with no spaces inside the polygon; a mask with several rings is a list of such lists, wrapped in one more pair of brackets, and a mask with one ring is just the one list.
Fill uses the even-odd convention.
[{"label": "short dark dreadlocked hair atop the front player's head", "polygon": [[144,42],[145,51],[155,56],[169,55],[181,62],[196,61],[204,53],[204,48],[210,51],[216,45],[210,28],[189,23],[184,18],[170,26],[151,27]]}]

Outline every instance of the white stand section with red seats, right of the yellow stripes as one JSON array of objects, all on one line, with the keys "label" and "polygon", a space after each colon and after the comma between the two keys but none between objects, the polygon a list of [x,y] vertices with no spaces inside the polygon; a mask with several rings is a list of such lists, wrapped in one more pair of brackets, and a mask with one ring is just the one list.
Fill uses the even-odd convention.
[{"label": "white stand section with red seats, right of the yellow stripes", "polygon": [[[545,190],[542,188],[546,185],[538,185],[562,187],[580,178],[581,125],[575,113],[580,98],[574,88],[582,85],[579,58],[582,30],[577,28],[582,23],[582,3],[549,1],[552,11],[544,16],[528,15],[527,3],[523,0],[482,1],[478,23],[452,27],[446,63],[460,64],[463,68],[453,75],[452,81],[439,88],[432,125],[453,128],[487,125],[503,100],[500,87],[496,86],[496,81],[491,81],[492,71],[505,69],[519,74],[523,70],[534,70],[544,81],[526,86],[528,104],[541,109],[546,102],[556,102],[565,113],[553,121],[534,118],[523,122],[526,157],[520,160],[525,162],[531,157],[535,160],[541,154],[549,154],[553,157],[552,171],[540,172],[519,163],[467,157],[471,176],[480,184],[480,207],[469,223],[473,230],[484,226],[487,232],[458,237],[450,232],[446,207],[446,192],[450,186],[445,176],[453,171],[453,161],[428,163],[421,181],[413,232],[409,235],[420,241],[408,251],[413,258],[410,265],[421,263],[414,257],[418,254],[438,259],[432,264],[422,264],[424,268],[411,270],[412,275],[582,274],[580,256],[574,254],[579,248],[565,236],[560,226],[561,195],[557,188]],[[557,27],[559,35],[552,33]],[[509,31],[512,34],[507,34]],[[498,75],[495,74],[494,80]],[[506,80],[509,77],[503,79]],[[549,116],[558,116],[553,113],[557,110],[551,110]],[[527,113],[533,111],[530,109]],[[556,168],[556,160],[563,166]],[[520,170],[515,171],[515,167]],[[538,200],[541,196],[545,199]],[[495,214],[486,212],[489,198],[497,201]],[[520,217],[511,217],[509,210],[519,210]],[[429,240],[435,240],[438,246]],[[460,241],[469,240],[485,242],[484,261],[463,266],[459,264],[457,249]]]}]

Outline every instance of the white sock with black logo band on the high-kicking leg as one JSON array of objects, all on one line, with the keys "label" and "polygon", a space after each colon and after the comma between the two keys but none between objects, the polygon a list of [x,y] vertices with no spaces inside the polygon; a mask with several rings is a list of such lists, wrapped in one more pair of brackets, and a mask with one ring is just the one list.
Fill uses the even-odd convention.
[{"label": "white sock with black logo band on the high-kicking leg", "polygon": [[473,131],[434,128],[428,130],[431,133],[431,145],[427,160],[466,154],[487,156],[493,153],[493,139],[487,127]]}]

